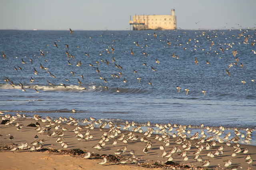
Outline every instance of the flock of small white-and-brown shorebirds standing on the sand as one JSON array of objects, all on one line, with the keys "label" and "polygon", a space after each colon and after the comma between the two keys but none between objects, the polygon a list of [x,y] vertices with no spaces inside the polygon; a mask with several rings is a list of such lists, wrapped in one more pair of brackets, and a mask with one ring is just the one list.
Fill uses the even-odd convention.
[{"label": "flock of small white-and-brown shorebirds standing on the sand", "polygon": [[[5,114],[2,111],[0,113],[1,115]],[[5,123],[6,126],[14,125],[16,121],[27,118],[25,114],[16,114],[16,116],[5,114],[2,117],[2,120],[8,120]],[[142,126],[136,126],[136,123],[134,123],[134,121],[132,121],[132,123],[126,121],[126,124],[124,126],[120,126],[118,124],[112,123],[111,121],[104,122],[101,119],[97,120],[93,117],[90,117],[89,120],[85,118],[83,121],[84,125],[78,123],[78,121],[71,116],[69,117],[69,119],[66,117],[63,118],[61,116],[59,117],[59,119],[51,119],[48,116],[44,119],[41,116],[35,114],[33,119],[36,121],[35,132],[37,132],[38,135],[47,134],[48,138],[53,138],[56,135],[56,143],[59,143],[63,149],[68,148],[68,143],[66,143],[66,140],[64,139],[65,133],[74,132],[73,138],[76,138],[78,142],[87,142],[89,140],[95,141],[98,139],[95,139],[95,137],[92,135],[92,131],[96,126],[98,126],[97,129],[100,130],[102,135],[92,148],[95,148],[97,150],[104,150],[105,147],[111,148],[115,147],[117,143],[122,143],[124,147],[114,151],[114,154],[116,154],[116,156],[123,156],[122,159],[120,159],[119,161],[119,163],[121,164],[126,164],[128,160],[131,161],[132,163],[137,163],[138,161],[140,161],[140,159],[136,157],[135,151],[133,149],[130,150],[130,154],[128,153],[128,155],[130,155],[128,158],[124,156],[124,152],[126,152],[126,150],[128,150],[129,147],[128,143],[134,143],[138,141],[144,143],[144,148],[142,149],[142,152],[144,152],[144,154],[150,153],[151,149],[155,150],[156,148],[154,147],[154,145],[159,146],[161,144],[159,147],[159,152],[163,158],[166,158],[166,161],[173,161],[178,157],[181,157],[183,161],[187,163],[188,159],[191,159],[188,157],[188,154],[192,153],[192,148],[196,148],[196,151],[192,153],[194,155],[193,159],[196,160],[197,162],[201,162],[202,166],[208,167],[210,166],[209,159],[221,156],[223,152],[227,151],[226,147],[233,146],[234,150],[232,152],[232,155],[230,155],[230,158],[224,161],[225,168],[230,167],[232,165],[232,160],[234,160],[234,158],[238,154],[242,153],[245,155],[245,161],[249,164],[249,166],[253,162],[250,154],[248,154],[249,149],[242,149],[240,148],[239,144],[241,138],[244,138],[244,141],[246,142],[252,139],[251,134],[253,130],[249,128],[246,129],[246,136],[244,134],[241,134],[241,132],[236,128],[234,131],[235,137],[230,139],[229,137],[231,136],[231,133],[229,132],[226,134],[224,139],[221,139],[220,137],[218,138],[218,136],[224,133],[224,127],[220,126],[219,129],[214,129],[210,127],[204,127],[204,124],[201,125],[201,133],[196,132],[194,135],[191,135],[191,125],[171,125],[170,123],[162,125],[156,123],[155,126],[152,126],[151,123],[148,121],[148,129],[146,131],[143,131]],[[67,129],[64,125],[68,125],[69,128]],[[23,125],[19,123],[16,123],[14,126],[16,127],[17,131],[20,131],[23,127]],[[130,127],[132,127],[132,130],[129,130]],[[123,129],[123,131],[121,129]],[[153,132],[155,132],[157,129],[161,133],[153,134]],[[204,129],[207,129],[207,134],[210,134],[210,137],[206,136]],[[172,131],[175,131],[176,133],[170,133]],[[38,135],[35,135],[33,139],[34,141],[30,143],[31,145],[28,142],[24,144],[21,143],[20,145],[12,144],[10,147],[10,151],[14,152],[17,149],[28,149],[31,151],[40,150],[43,147],[43,144],[49,141],[45,139],[38,140]],[[70,137],[70,135],[68,136]],[[10,136],[9,139],[12,142],[14,140],[14,137]],[[218,143],[215,139],[218,139]],[[169,149],[169,147],[171,146],[173,147]],[[216,149],[216,147],[218,148]],[[91,157],[91,153],[89,150],[90,149],[88,149],[88,152],[86,152],[82,156],[82,158],[88,159]],[[139,151],[136,150],[136,152]],[[203,160],[202,157],[206,156],[204,154],[208,156],[208,159]],[[99,162],[99,164],[103,165],[106,164],[106,162],[107,159],[106,157],[104,157],[103,160]],[[232,170],[237,169],[237,165],[232,166]]]}]

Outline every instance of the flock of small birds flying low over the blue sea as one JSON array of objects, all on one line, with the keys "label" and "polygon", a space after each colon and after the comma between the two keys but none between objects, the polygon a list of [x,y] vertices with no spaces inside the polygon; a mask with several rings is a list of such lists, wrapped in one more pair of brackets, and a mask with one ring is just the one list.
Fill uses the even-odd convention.
[{"label": "flock of small birds flying low over the blue sea", "polygon": [[[70,33],[71,33],[71,35],[73,35],[74,31],[72,31],[72,29],[70,29]],[[248,41],[250,40],[250,38],[252,38],[252,36],[250,36],[250,35],[248,35],[248,36],[243,36],[243,33],[246,33],[246,30],[243,30],[243,32],[240,33],[240,34],[237,36],[237,38],[240,39],[240,38],[244,37],[243,43],[244,43],[244,44],[249,44]],[[149,35],[150,35],[150,34],[149,34]],[[155,39],[156,39],[157,36],[158,36],[158,35],[157,35],[156,33],[154,33],[154,38],[155,38]],[[163,37],[163,36],[166,36],[166,35],[160,35],[160,37]],[[206,32],[205,32],[205,31],[202,31],[202,36],[206,36]],[[216,35],[215,35],[215,36],[216,36]],[[209,35],[208,35],[208,37],[209,37]],[[89,37],[89,39],[90,39],[90,37]],[[193,39],[190,38],[190,39],[188,40],[188,42],[186,43],[186,45],[188,45],[189,43],[191,43],[192,40],[193,40]],[[161,40],[159,40],[159,41],[161,41]],[[198,41],[198,40],[194,39],[194,41],[196,42],[196,41]],[[55,46],[56,48],[59,48],[59,47],[58,47],[58,43],[59,43],[59,42],[60,42],[60,41],[55,41],[55,42],[53,42],[53,46]],[[113,40],[113,43],[114,43],[114,42],[115,42],[115,41]],[[174,42],[173,42],[173,43],[174,43]],[[180,47],[180,46],[182,45],[182,44],[179,44],[178,39],[176,40],[175,43],[176,43],[176,44],[175,44],[174,46],[177,46],[177,47]],[[256,43],[256,41],[254,40],[254,41],[252,41],[252,43],[250,43],[250,45],[252,45],[252,47],[253,47],[255,43]],[[145,48],[145,47],[148,47],[148,45],[145,45],[145,46],[143,47],[142,44],[139,44],[138,42],[134,42],[134,44],[135,44],[136,46],[138,46],[139,48],[142,49],[142,53],[143,53],[146,57],[151,56],[150,54],[146,53],[145,50],[143,49],[143,48]],[[168,47],[170,47],[171,44],[172,44],[172,42],[167,41],[166,46],[168,45]],[[215,43],[214,41],[212,41],[212,43],[211,43],[211,45],[210,45],[210,47],[209,47],[210,50],[212,50],[212,47],[213,47],[214,45],[216,45],[216,44],[218,45],[218,43]],[[68,60],[67,60],[67,61],[68,61],[68,65],[73,65],[74,63],[72,64],[72,63],[70,62],[70,58],[74,60],[75,57],[69,52],[70,46],[69,46],[68,44],[64,44],[64,45],[65,45],[66,55],[67,55],[67,57],[68,57]],[[47,46],[49,46],[49,45],[47,45]],[[195,45],[195,47],[197,47],[197,46]],[[77,48],[79,48],[79,46],[78,46]],[[86,48],[87,48],[87,47],[86,47]],[[198,48],[199,48],[199,47],[197,47],[197,49],[198,49]],[[220,51],[221,51],[222,53],[224,53],[224,51],[228,50],[229,48],[232,48],[232,44],[231,44],[231,43],[228,44],[228,47],[227,47],[226,49],[224,49],[224,48],[222,48],[222,47],[220,47],[219,49],[220,49]],[[135,56],[135,53],[134,53],[133,49],[134,49],[134,47],[130,49],[130,54],[133,55],[133,56]],[[194,48],[194,49],[192,49],[192,51],[196,51],[197,49]],[[187,46],[184,47],[184,51],[185,51],[185,50],[188,50],[188,47],[187,47]],[[204,51],[204,49],[201,49],[201,50]],[[96,72],[98,72],[99,78],[102,79],[102,80],[104,80],[105,83],[107,83],[107,82],[108,82],[108,80],[106,80],[107,78],[105,78],[105,77],[103,76],[103,74],[102,74],[102,72],[101,72],[101,70],[100,70],[100,63],[107,64],[108,66],[110,66],[110,64],[114,64],[114,66],[115,66],[116,68],[120,69],[120,71],[116,71],[116,70],[115,70],[115,71],[114,71],[115,73],[111,74],[111,76],[110,76],[110,75],[107,75],[108,78],[109,78],[109,79],[110,79],[110,77],[112,77],[113,79],[115,79],[115,78],[119,78],[119,79],[120,79],[120,78],[123,78],[123,82],[124,82],[124,83],[128,83],[129,80],[127,80],[127,78],[123,77],[124,73],[122,72],[122,71],[125,72],[125,71],[128,71],[128,70],[124,70],[124,68],[123,68],[120,64],[117,64],[117,59],[116,59],[116,57],[114,57],[114,55],[113,55],[114,52],[115,52],[114,46],[113,46],[113,45],[112,45],[112,46],[109,46],[109,48],[106,48],[106,51],[107,51],[107,53],[109,53],[109,54],[112,56],[112,61],[108,61],[108,59],[101,59],[101,58],[99,57],[98,60],[95,61],[95,62],[96,62],[96,68],[95,68],[94,64],[92,64],[92,63],[88,63],[88,65],[89,65],[89,66],[92,66],[92,68],[95,69]],[[129,51],[126,51],[126,52],[129,52]],[[254,52],[254,54],[256,54],[256,52],[255,52],[254,50],[252,50],[252,52]],[[46,55],[48,55],[48,54],[47,54],[48,52],[44,52],[44,51],[42,51],[42,50],[40,50],[40,53],[41,53],[42,57],[44,57],[44,58],[46,57]],[[103,51],[100,52],[99,56],[101,56],[102,53],[103,53]],[[214,51],[213,53],[214,53],[214,54],[218,54],[218,51]],[[233,50],[232,53],[233,53],[234,57],[236,57],[236,55],[238,54],[238,51],[237,51],[237,50]],[[6,54],[4,53],[4,51],[2,51],[2,54],[3,54],[3,57],[4,57],[5,60],[7,59],[7,57],[9,57],[9,56],[6,56]],[[208,52],[208,54],[210,54],[210,53]],[[85,55],[90,58],[89,53],[85,53]],[[35,55],[35,56],[36,56],[36,55]],[[180,56],[180,55],[176,55],[175,53],[173,53],[173,55],[172,55],[172,57],[174,57],[174,58],[176,58],[176,59],[179,59],[179,56]],[[40,56],[38,56],[38,57],[40,57]],[[35,60],[35,59],[34,59],[34,60]],[[33,64],[34,60],[30,58],[31,64]],[[47,61],[48,61],[48,59],[45,60],[45,62],[47,62]],[[233,61],[232,61],[231,64],[228,65],[229,67],[226,68],[226,73],[228,74],[228,76],[231,76],[231,75],[232,75],[232,72],[230,72],[230,70],[228,70],[228,69],[230,69],[232,66],[235,65],[235,66],[241,66],[241,68],[244,68],[244,64],[242,64],[242,63],[239,62],[238,57],[236,57],[235,61],[236,61],[236,62],[233,62]],[[162,61],[159,61],[159,60],[156,58],[156,61],[155,61],[155,62],[156,62],[157,64],[160,64]],[[163,62],[164,62],[164,61],[163,61]],[[194,61],[194,62],[195,62],[195,65],[197,66],[200,61],[198,61],[197,57],[195,57],[195,61]],[[24,59],[21,59],[21,63],[22,63],[22,64],[29,64],[28,61],[24,61]],[[206,61],[206,64],[209,64],[209,65],[210,65],[211,63],[208,62],[208,61]],[[148,66],[147,66],[146,63],[143,63],[143,65],[148,68]],[[80,61],[76,61],[76,66],[78,66],[78,67],[83,66],[82,61],[81,61],[81,60],[80,60]],[[157,71],[157,69],[155,69],[153,66],[150,66],[150,67],[151,67],[152,71]],[[52,78],[57,78],[57,77],[59,77],[59,75],[54,75],[52,72],[50,72],[50,69],[49,69],[48,67],[46,67],[46,66],[43,66],[42,63],[40,63],[40,67],[38,67],[38,68],[40,68],[40,69],[46,71],[48,74],[50,74],[50,76],[51,76]],[[34,74],[39,76],[40,74],[39,74],[39,72],[37,71],[38,68],[35,68],[35,67],[34,67],[33,70],[34,70]],[[17,72],[19,72],[19,70],[20,70],[21,72],[23,72],[22,68],[21,68],[20,66],[18,66],[18,65],[17,65],[17,66],[14,66],[14,70],[16,70]],[[131,71],[131,70],[130,70],[130,71]],[[138,73],[138,71],[136,71],[136,69],[133,68],[132,71],[133,71],[135,74],[137,74],[137,75],[139,76],[140,73]],[[63,72],[63,73],[64,73],[64,72]],[[79,84],[80,86],[82,86],[82,84],[84,83],[83,81],[84,81],[84,79],[85,79],[83,73],[80,73],[80,74],[78,73],[78,74],[76,74],[75,71],[71,71],[70,73],[72,74],[73,77],[78,76],[78,77],[81,77],[81,78],[82,78],[82,80],[80,80],[81,78],[77,78],[78,84]],[[44,74],[44,75],[45,75],[45,74]],[[61,75],[61,76],[63,77],[63,75]],[[142,80],[141,76],[139,76],[137,79],[138,79],[138,82],[139,82],[139,83],[140,83],[141,80]],[[7,84],[12,85],[14,88],[17,86],[17,83],[14,84],[13,80],[11,80],[10,78],[8,78],[8,76],[4,76],[4,80],[6,81]],[[49,85],[54,84],[54,83],[51,83],[51,82],[48,81],[48,80],[46,80],[46,81],[48,82]],[[62,80],[61,80],[61,81],[62,81]],[[66,82],[69,82],[68,78],[65,78],[65,81],[66,81]],[[22,82],[20,82],[20,81],[18,81],[18,82],[19,82],[18,86],[20,86],[20,88],[22,89],[22,91],[26,92],[26,88],[24,87],[24,85],[22,84]],[[31,78],[30,78],[30,83],[34,83],[34,82],[37,82],[37,80],[36,80],[36,78],[32,78],[32,76],[31,76]],[[241,82],[242,82],[243,84],[246,83],[245,80],[242,80]],[[255,83],[256,83],[256,81],[253,80],[253,79],[252,79],[252,82],[255,82]],[[23,82],[23,83],[25,83],[25,82]],[[154,83],[152,83],[150,80],[148,80],[148,84],[150,84],[151,86],[154,85]],[[64,86],[64,88],[67,88],[67,85],[66,85],[64,82],[60,82],[60,85]],[[30,87],[31,87],[31,86],[30,86]],[[109,90],[109,89],[108,89],[108,86],[104,85],[103,87],[105,87],[106,90]],[[86,89],[85,87],[83,87],[83,88]],[[179,87],[179,86],[177,86],[176,88],[178,89],[178,92],[180,93],[180,90],[181,90],[182,88]],[[40,91],[38,91],[38,90],[36,89],[36,86],[34,86],[34,89],[36,90],[36,92],[38,92],[38,93],[40,92]],[[184,90],[186,91],[186,95],[188,95],[190,89],[184,88]],[[120,92],[120,89],[116,88],[116,92]],[[202,93],[203,93],[204,95],[206,95],[206,90],[202,90]]]}]

